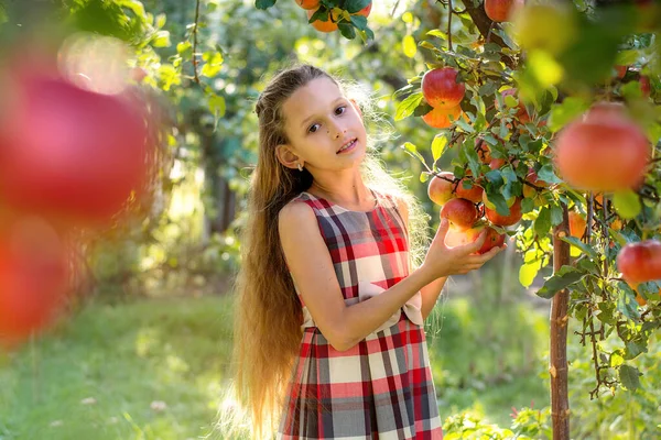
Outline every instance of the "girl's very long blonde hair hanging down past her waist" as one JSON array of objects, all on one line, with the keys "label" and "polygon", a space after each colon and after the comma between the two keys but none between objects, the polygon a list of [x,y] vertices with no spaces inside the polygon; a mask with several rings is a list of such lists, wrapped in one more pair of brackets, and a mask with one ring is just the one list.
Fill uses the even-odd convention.
[{"label": "girl's very long blonde hair hanging down past her waist", "polygon": [[[273,77],[256,107],[259,158],[250,178],[248,220],[241,233],[234,340],[236,393],[239,403],[248,406],[256,438],[268,438],[275,428],[302,338],[301,304],[280,245],[278,215],[311,186],[313,178],[305,169],[284,167],[275,156],[275,147],[288,143],[282,106],[300,87],[321,77],[345,90],[324,70],[302,65]],[[365,105],[361,110],[366,117],[372,114]],[[361,173],[367,186],[408,205],[410,254],[415,265],[426,241],[426,220],[418,201],[384,170],[373,153],[364,160]]]}]

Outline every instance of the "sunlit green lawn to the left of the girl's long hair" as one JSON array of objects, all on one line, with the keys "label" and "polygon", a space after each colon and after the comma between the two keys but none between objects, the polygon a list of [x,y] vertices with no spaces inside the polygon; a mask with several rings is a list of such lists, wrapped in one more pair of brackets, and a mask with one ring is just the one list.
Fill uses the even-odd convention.
[{"label": "sunlit green lawn to the left of the girl's long hair", "polygon": [[0,369],[0,439],[194,439],[227,374],[225,298],[93,305]]}]

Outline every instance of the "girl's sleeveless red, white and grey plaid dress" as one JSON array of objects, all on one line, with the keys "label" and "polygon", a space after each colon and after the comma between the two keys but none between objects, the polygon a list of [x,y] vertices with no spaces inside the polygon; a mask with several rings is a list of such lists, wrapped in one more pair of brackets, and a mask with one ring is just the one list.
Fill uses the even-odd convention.
[{"label": "girl's sleeveless red, white and grey plaid dress", "polygon": [[[349,211],[308,193],[347,305],[409,274],[407,227],[389,196],[372,190],[371,211]],[[295,280],[294,280],[295,285]],[[278,439],[437,440],[441,419],[418,293],[354,348],[335,350],[303,304],[303,339]]]}]

